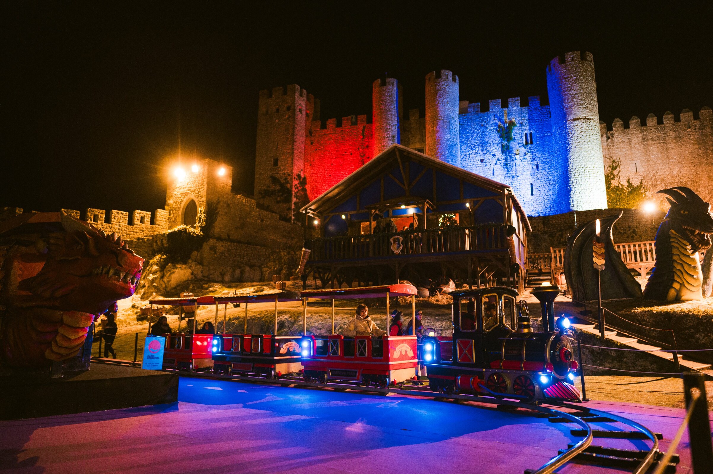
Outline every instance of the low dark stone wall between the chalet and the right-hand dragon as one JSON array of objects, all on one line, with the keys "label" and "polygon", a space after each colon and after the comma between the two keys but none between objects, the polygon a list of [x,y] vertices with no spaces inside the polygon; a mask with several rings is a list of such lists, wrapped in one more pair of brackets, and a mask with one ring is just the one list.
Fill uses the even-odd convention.
[{"label": "low dark stone wall between the chalet and the right-hand dragon", "polygon": [[609,215],[624,214],[614,225],[614,243],[646,242],[655,239],[656,231],[665,216],[638,209],[594,209],[571,211],[564,214],[529,217],[532,232],[528,234],[529,253],[549,253],[550,247],[566,247],[575,228]]}]

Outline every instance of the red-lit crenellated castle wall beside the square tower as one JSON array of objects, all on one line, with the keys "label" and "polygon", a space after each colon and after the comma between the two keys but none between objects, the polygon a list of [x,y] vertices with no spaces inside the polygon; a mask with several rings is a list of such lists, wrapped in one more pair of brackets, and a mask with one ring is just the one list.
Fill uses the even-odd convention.
[{"label": "red-lit crenellated castle wall beside the square tower", "polygon": [[327,120],[327,128],[321,125],[319,120],[312,122],[305,143],[304,168],[310,200],[373,158],[374,136],[366,115],[344,117],[341,127],[337,127],[336,118]]}]

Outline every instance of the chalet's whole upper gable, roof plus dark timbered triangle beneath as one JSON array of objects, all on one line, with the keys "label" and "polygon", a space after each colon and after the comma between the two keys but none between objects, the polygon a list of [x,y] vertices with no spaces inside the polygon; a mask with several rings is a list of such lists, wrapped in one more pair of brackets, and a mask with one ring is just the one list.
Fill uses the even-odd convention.
[{"label": "chalet's whole upper gable, roof plus dark timbered triangle beneath", "polygon": [[503,222],[503,195],[509,195],[519,220],[526,230],[531,230],[508,185],[402,145],[392,145],[302,207],[302,212],[319,217],[325,228],[340,228],[347,220],[369,220],[371,213],[384,215],[390,211],[392,216],[406,216],[424,210],[463,212],[470,205],[476,223]]}]

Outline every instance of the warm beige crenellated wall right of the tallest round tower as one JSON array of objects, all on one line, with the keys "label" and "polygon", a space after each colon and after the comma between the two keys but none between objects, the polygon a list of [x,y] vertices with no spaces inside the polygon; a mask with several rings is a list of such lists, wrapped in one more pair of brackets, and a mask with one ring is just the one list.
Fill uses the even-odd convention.
[{"label": "warm beige crenellated wall right of the tallest round tower", "polygon": [[[690,110],[683,110],[680,120],[670,112],[659,123],[649,114],[642,124],[637,117],[629,120],[629,127],[618,118],[607,131],[601,125],[601,141],[607,163],[621,164],[620,178],[637,184],[642,181],[652,193],[672,186],[686,186],[703,200],[713,200],[713,112],[704,107],[694,118]],[[654,196],[656,197],[656,196]],[[663,195],[658,195],[661,202]]]}]

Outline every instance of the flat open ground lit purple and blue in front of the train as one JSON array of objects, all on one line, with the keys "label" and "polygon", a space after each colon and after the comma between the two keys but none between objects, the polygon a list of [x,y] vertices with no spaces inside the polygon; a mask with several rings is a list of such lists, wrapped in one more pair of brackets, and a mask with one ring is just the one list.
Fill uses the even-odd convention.
[{"label": "flat open ground lit purple and blue in front of the train", "polygon": [[[523,473],[577,439],[570,426],[546,418],[402,396],[181,378],[179,399],[169,407],[0,422],[0,470]],[[683,413],[623,402],[592,406],[664,433],[664,446]],[[643,447],[595,440],[617,442]],[[687,445],[678,451],[677,472],[687,473]],[[562,472],[607,470],[573,465]]]}]

